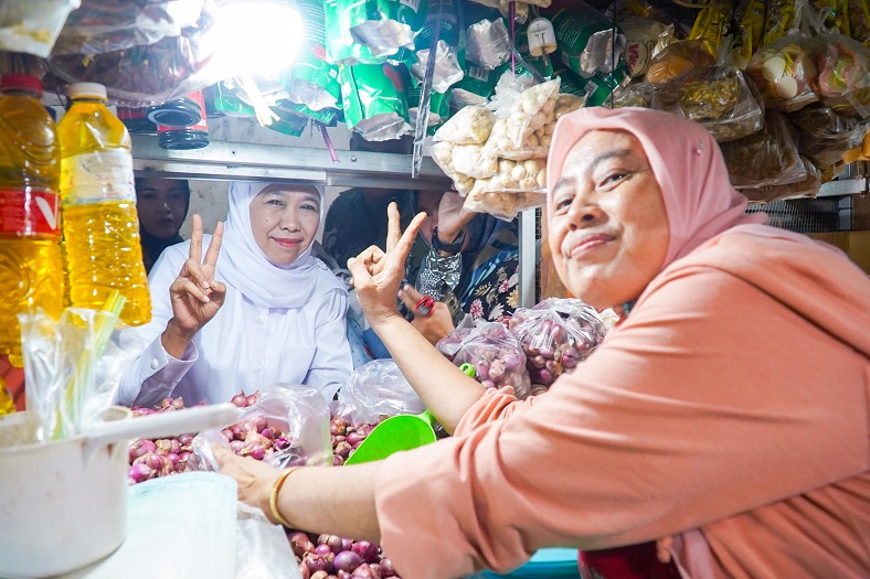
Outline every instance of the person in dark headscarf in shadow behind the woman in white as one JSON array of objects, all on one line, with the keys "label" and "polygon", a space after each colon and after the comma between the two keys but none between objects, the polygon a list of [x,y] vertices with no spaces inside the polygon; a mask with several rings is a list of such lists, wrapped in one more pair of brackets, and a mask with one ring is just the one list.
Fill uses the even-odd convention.
[{"label": "person in dark headscarf in shadow behind the woman in white", "polygon": [[179,235],[190,207],[190,184],[183,179],[144,178],[136,180],[136,213],[145,270],[150,272],[157,258],[170,245],[184,239]]}]

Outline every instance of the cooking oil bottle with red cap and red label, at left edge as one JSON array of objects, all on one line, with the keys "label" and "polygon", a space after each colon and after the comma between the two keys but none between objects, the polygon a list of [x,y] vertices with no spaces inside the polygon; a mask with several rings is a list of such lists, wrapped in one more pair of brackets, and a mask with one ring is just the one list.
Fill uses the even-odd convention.
[{"label": "cooking oil bottle with red cap and red label, at left edge", "polygon": [[63,310],[61,149],[39,78],[6,74],[0,92],[0,354],[20,366],[17,315]]}]

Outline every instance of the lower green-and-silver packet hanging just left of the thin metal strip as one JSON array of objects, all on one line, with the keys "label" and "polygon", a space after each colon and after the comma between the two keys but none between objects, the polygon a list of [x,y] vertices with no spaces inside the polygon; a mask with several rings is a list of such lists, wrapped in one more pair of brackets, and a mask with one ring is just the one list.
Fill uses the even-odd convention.
[{"label": "lower green-and-silver packet hanging just left of the thin metal strip", "polygon": [[397,139],[411,128],[401,78],[389,64],[339,68],[344,122],[369,141]]}]

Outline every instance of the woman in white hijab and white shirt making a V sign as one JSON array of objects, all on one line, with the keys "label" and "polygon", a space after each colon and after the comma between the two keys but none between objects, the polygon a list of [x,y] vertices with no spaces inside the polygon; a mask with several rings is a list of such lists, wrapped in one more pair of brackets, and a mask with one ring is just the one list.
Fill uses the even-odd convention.
[{"label": "woman in white hijab and white shirt making a V sign", "polygon": [[194,216],[191,240],[151,270],[151,321],[121,336],[144,351],[121,378],[119,404],[213,404],[275,383],[331,400],[351,356],[344,286],[311,256],[322,205],[312,185],[233,182],[225,228],[203,236]]}]

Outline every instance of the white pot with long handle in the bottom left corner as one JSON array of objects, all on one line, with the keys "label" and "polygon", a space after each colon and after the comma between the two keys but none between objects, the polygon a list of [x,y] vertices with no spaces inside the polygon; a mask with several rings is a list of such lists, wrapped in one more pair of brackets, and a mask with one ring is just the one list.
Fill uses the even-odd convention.
[{"label": "white pot with long handle in the bottom left corner", "polygon": [[[232,423],[232,404],[131,419],[113,407],[87,436],[14,444],[26,412],[0,419],[0,577],[60,575],[95,562],[124,542],[127,442]],[[32,437],[30,437],[32,440]]]}]

